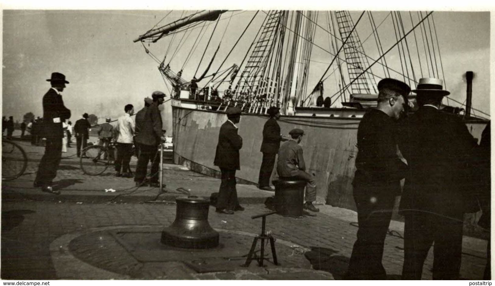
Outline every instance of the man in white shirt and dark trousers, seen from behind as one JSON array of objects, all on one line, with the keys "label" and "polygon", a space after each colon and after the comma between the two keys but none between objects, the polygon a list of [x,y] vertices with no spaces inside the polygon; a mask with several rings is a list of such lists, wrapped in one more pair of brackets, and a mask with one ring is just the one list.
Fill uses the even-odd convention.
[{"label": "man in white shirt and dark trousers, seen from behind", "polygon": [[[119,117],[116,127],[117,134],[117,160],[115,160],[115,176],[130,178],[132,175],[128,172],[129,162],[131,161],[131,150],[134,144],[135,123],[131,118],[134,114],[134,106],[127,104],[124,107],[125,114]],[[120,171],[122,170],[122,174]]]}]

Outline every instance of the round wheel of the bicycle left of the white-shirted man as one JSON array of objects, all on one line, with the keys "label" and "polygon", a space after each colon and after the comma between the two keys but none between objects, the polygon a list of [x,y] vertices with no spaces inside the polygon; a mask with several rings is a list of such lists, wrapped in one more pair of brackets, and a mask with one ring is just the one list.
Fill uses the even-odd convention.
[{"label": "round wheel of the bicycle left of the white-shirted man", "polygon": [[108,151],[101,146],[90,146],[81,152],[81,169],[85,174],[96,176],[110,165]]}]

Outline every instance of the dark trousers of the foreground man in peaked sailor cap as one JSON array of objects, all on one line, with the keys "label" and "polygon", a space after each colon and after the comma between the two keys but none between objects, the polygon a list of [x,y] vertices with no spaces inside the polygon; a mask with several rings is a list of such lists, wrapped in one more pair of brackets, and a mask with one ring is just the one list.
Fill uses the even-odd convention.
[{"label": "dark trousers of the foreground man in peaked sailor cap", "polygon": [[384,191],[387,190],[354,186],[353,195],[359,229],[347,270],[349,279],[385,280],[387,278],[382,257],[385,237],[392,218],[395,193]]}]

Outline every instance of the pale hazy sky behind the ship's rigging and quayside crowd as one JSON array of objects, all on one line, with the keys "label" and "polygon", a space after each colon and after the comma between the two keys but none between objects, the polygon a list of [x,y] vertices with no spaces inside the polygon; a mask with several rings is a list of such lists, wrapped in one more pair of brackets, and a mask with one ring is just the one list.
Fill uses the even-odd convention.
[{"label": "pale hazy sky behind the ship's rigging and quayside crowd", "polygon": [[[178,19],[182,12],[173,11],[161,24]],[[167,10],[3,10],[2,115],[13,116],[14,120],[21,119],[27,112],[42,116],[42,97],[49,89],[46,79],[52,72],[65,74],[70,82],[62,94],[65,105],[72,111],[71,121],[86,112],[116,119],[124,113],[128,103],[133,104],[137,112],[143,107],[143,98],[150,97],[155,90],[169,95],[157,63],[141,43],[133,42],[168,13]],[[219,58],[230,50],[255,12],[228,13],[241,14],[219,24],[220,31],[225,33]],[[351,13],[354,21],[359,14]],[[259,12],[253,26],[260,23],[263,15]],[[490,114],[490,13],[438,11],[434,16],[440,31],[438,41],[446,87],[452,98],[464,101],[463,74],[474,71],[473,107]],[[212,26],[208,29],[203,42]],[[246,37],[252,37],[255,32],[248,30]],[[221,37],[221,33],[215,36]],[[194,41],[194,37],[189,41]],[[326,41],[325,48],[329,48],[327,38],[318,41]],[[165,39],[151,44],[148,49],[161,58],[168,43]],[[239,49],[243,44],[246,43],[240,44]],[[184,67],[186,79],[196,71],[200,50],[201,46]],[[171,67],[178,70],[189,51],[189,48],[179,48],[171,59]],[[212,50],[207,51],[205,58],[212,54]],[[239,63],[243,56],[234,53],[224,67]],[[314,57],[316,61],[331,60],[324,51],[315,51]],[[315,71],[310,71],[310,82],[317,81],[321,70],[327,67],[326,64],[315,66]],[[170,107],[166,106],[164,113],[169,112]],[[171,128],[171,123],[165,125]]]}]

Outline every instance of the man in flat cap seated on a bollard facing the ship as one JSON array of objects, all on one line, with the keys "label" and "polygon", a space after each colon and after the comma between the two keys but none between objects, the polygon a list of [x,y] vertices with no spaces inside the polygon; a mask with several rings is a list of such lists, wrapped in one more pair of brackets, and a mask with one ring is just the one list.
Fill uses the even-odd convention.
[{"label": "man in flat cap seated on a bollard facing the ship", "polygon": [[303,207],[314,212],[320,211],[313,205],[316,200],[316,179],[313,175],[306,173],[302,147],[299,145],[304,131],[296,128],[292,129],[289,134],[292,139],[285,142],[278,153],[277,173],[281,179],[292,178],[306,181],[306,203]]}]

